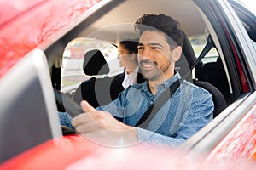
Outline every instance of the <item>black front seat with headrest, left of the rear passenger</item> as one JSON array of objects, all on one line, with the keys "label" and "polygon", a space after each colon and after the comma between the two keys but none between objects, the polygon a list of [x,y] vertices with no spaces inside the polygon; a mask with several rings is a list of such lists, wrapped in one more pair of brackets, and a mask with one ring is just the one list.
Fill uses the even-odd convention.
[{"label": "black front seat with headrest, left of the rear passenger", "polygon": [[[93,49],[84,54],[84,74],[90,76],[106,75],[109,73],[109,67],[102,52]],[[73,94],[73,100],[80,104],[84,99],[90,105],[97,107],[106,105],[112,101],[110,96],[110,85],[113,82],[112,77],[91,77],[82,82]],[[109,88],[108,88],[109,87]]]}]

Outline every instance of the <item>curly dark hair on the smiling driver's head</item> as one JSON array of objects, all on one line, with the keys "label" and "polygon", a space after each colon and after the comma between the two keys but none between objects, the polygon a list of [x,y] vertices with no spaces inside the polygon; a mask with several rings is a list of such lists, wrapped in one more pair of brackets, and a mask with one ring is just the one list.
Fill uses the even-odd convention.
[{"label": "curly dark hair on the smiling driver's head", "polygon": [[135,31],[142,35],[143,31],[162,31],[166,34],[171,50],[177,46],[183,47],[183,31],[177,20],[165,14],[144,14],[135,23]]}]

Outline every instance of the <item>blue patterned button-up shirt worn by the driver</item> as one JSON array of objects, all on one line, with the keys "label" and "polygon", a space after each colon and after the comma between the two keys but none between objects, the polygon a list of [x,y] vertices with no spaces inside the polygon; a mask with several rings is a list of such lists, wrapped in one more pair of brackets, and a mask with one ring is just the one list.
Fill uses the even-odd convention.
[{"label": "blue patterned button-up shirt worn by the driver", "polygon": [[[180,78],[176,73],[157,88],[157,94],[151,94],[148,82],[134,84],[125,89],[119,97],[97,110],[108,111],[113,116],[122,117],[125,124],[136,126],[155,99]],[[214,105],[212,95],[207,90],[183,81],[172,98],[160,108],[148,124],[147,129],[137,127],[138,141],[154,144],[167,144],[176,147],[212,121]],[[67,126],[70,117],[61,116],[61,124]],[[66,120],[65,120],[66,119]]]}]

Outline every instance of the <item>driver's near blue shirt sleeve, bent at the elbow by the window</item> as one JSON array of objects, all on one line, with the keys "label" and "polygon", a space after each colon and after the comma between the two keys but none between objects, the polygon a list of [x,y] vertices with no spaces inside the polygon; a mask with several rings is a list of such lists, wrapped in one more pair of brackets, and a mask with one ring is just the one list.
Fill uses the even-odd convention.
[{"label": "driver's near blue shirt sleeve, bent at the elbow by the window", "polygon": [[164,144],[177,147],[183,144],[192,135],[205,127],[208,122],[212,121],[212,111],[214,105],[211,94],[201,94],[200,98],[194,96],[193,105],[183,116],[183,121],[174,137],[161,135],[152,131],[137,127],[138,142],[149,142],[153,144]]}]

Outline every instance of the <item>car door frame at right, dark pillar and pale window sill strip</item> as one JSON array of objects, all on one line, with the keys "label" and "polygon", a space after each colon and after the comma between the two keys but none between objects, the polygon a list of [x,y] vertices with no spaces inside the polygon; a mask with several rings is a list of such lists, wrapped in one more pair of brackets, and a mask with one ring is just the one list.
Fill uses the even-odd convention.
[{"label": "car door frame at right, dark pillar and pale window sill strip", "polygon": [[[194,0],[194,2],[200,8],[201,14],[205,15],[203,18],[211,21],[213,34],[223,40],[218,41],[217,48],[218,52],[223,54],[221,57],[227,65],[236,99],[218,117],[180,147],[187,151],[206,153],[213,150],[256,105],[256,64],[253,59],[256,54],[247,31],[230,3],[222,0]],[[232,58],[234,55],[235,59]]]}]

